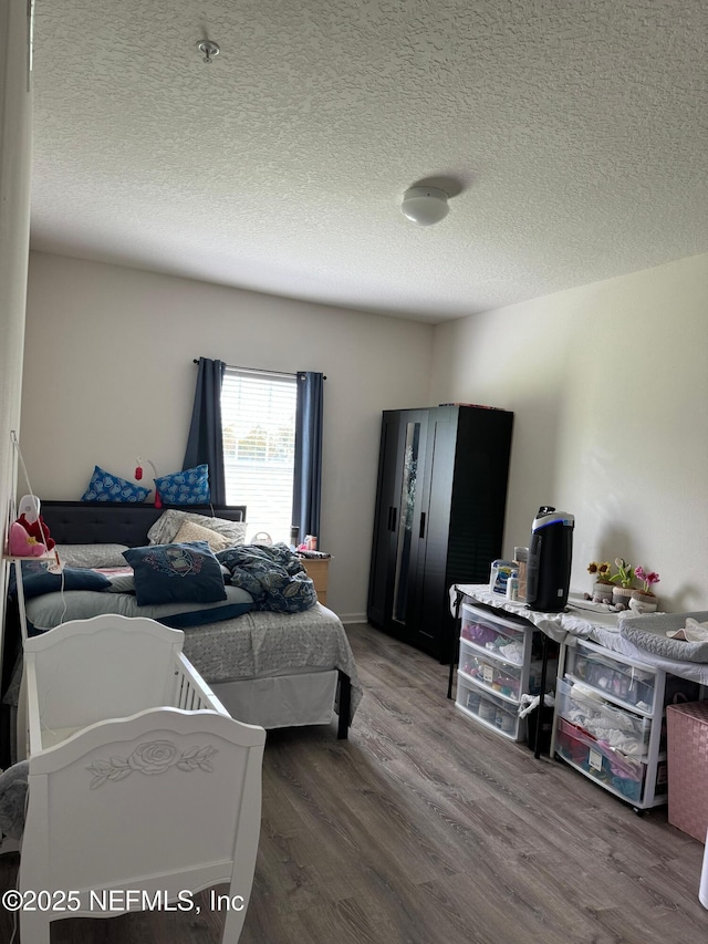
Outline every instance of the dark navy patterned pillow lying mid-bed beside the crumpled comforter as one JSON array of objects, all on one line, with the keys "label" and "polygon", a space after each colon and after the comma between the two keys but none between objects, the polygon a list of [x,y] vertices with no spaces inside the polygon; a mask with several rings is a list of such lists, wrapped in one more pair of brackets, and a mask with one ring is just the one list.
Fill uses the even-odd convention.
[{"label": "dark navy patterned pillow lying mid-bed beside the crumpled comforter", "polygon": [[153,603],[216,603],[226,600],[221,566],[206,541],[131,548],[139,606]]}]

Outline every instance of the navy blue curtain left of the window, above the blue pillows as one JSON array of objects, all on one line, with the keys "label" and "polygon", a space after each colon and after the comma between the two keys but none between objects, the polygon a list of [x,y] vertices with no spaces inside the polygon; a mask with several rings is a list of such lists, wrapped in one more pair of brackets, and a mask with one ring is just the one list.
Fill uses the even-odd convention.
[{"label": "navy blue curtain left of the window, above the blue pillows", "polygon": [[226,364],[199,357],[195,406],[183,469],[207,463],[212,505],[226,505],[223,437],[221,435],[221,382]]}]

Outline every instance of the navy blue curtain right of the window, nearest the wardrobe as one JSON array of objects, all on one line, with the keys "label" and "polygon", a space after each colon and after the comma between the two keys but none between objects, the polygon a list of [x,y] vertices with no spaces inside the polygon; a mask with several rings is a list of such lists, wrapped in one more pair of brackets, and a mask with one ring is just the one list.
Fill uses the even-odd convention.
[{"label": "navy blue curtain right of the window, nearest the wardrobe", "polygon": [[324,376],[298,371],[292,523],[300,528],[301,541],[320,535],[323,401]]}]

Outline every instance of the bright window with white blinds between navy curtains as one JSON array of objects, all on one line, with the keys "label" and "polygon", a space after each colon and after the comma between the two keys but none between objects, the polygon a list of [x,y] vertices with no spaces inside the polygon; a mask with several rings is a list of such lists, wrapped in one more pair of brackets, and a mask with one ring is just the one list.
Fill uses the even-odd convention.
[{"label": "bright window with white blinds between navy curtains", "polygon": [[246,505],[250,541],[267,531],[290,543],[295,461],[294,374],[227,367],[221,386],[229,505]]}]

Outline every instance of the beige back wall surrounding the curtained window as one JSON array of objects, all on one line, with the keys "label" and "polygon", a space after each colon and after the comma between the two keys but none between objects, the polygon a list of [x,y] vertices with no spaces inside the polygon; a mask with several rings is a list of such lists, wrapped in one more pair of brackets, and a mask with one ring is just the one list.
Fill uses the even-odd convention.
[{"label": "beige back wall surrounding the curtained window", "polygon": [[94,465],[181,468],[195,357],[327,376],[321,547],[329,601],[363,618],[381,412],[428,404],[433,328],[32,253],[22,448],[41,497],[79,499]]}]

